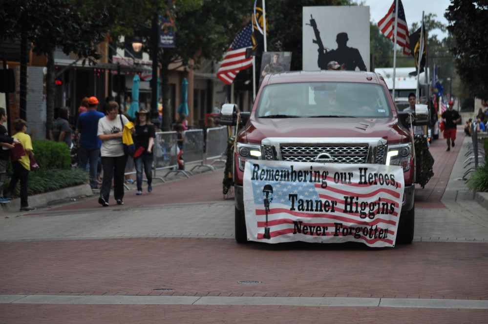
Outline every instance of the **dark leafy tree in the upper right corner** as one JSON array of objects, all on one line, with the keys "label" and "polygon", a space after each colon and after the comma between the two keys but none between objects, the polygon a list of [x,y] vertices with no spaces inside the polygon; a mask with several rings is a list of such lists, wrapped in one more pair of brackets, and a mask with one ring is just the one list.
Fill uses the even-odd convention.
[{"label": "dark leafy tree in the upper right corner", "polygon": [[488,1],[453,0],[448,7],[447,30],[454,38],[450,47],[457,72],[472,96],[488,100]]}]

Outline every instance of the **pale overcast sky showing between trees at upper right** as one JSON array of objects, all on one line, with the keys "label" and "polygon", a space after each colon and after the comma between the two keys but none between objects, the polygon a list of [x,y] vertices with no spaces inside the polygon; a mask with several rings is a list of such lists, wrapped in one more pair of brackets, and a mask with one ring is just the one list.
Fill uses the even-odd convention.
[{"label": "pale overcast sky showing between trees at upper right", "polygon": [[[363,4],[369,6],[370,20],[378,23],[388,12],[394,0],[362,0]],[[361,0],[357,0],[361,3]],[[405,19],[408,28],[412,26],[413,22],[417,22],[420,26],[422,20],[422,11],[424,15],[429,13],[436,14],[437,20],[447,25],[447,20],[444,17],[447,7],[451,4],[449,0],[402,0],[403,10],[405,11]],[[437,35],[438,40],[444,39],[447,34],[442,33],[439,29],[429,31],[429,34]]]}]

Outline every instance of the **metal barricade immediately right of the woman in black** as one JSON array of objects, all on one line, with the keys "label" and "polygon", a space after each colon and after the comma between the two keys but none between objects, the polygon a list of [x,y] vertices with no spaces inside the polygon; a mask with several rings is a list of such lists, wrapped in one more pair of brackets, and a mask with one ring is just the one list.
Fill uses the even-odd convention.
[{"label": "metal barricade immediately right of the woman in black", "polygon": [[[183,173],[188,176],[188,173],[184,170],[178,170],[178,136],[176,132],[157,132],[154,139],[154,148],[152,149],[154,154],[154,178],[160,179],[163,182],[171,172]],[[163,178],[156,177],[157,170],[170,170]]]}]

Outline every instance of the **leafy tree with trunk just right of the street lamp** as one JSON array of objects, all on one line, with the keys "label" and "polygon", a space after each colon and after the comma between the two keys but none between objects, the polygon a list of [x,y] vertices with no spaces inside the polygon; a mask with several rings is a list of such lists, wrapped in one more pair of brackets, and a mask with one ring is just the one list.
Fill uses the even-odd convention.
[{"label": "leafy tree with trunk just right of the street lamp", "polygon": [[[113,41],[120,42],[121,36],[130,37],[139,29],[145,39],[143,50],[150,53],[150,30],[144,26],[151,25],[153,13],[168,18],[169,1],[109,2],[117,3],[118,9],[117,20],[110,29]],[[176,47],[159,49],[157,57],[163,99],[163,131],[170,130],[171,122],[169,72],[181,67],[196,68],[203,59],[220,61],[251,10],[252,6],[243,1],[178,0],[174,3]]]}]

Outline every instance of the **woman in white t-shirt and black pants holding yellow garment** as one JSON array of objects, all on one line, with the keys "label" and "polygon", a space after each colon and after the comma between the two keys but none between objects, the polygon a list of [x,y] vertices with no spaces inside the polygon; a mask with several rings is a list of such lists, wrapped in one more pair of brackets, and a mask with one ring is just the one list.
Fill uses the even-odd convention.
[{"label": "woman in white t-shirt and black pants holding yellow garment", "polygon": [[[122,135],[124,125],[129,121],[124,115],[119,115],[119,104],[109,101],[106,104],[106,116],[98,121],[98,137],[102,140],[100,154],[102,156],[102,169],[104,178],[100,188],[98,203],[108,206],[110,188],[113,178],[113,196],[117,204],[124,204],[124,173],[128,155],[124,153]],[[130,130],[134,132],[134,128]]]}]

